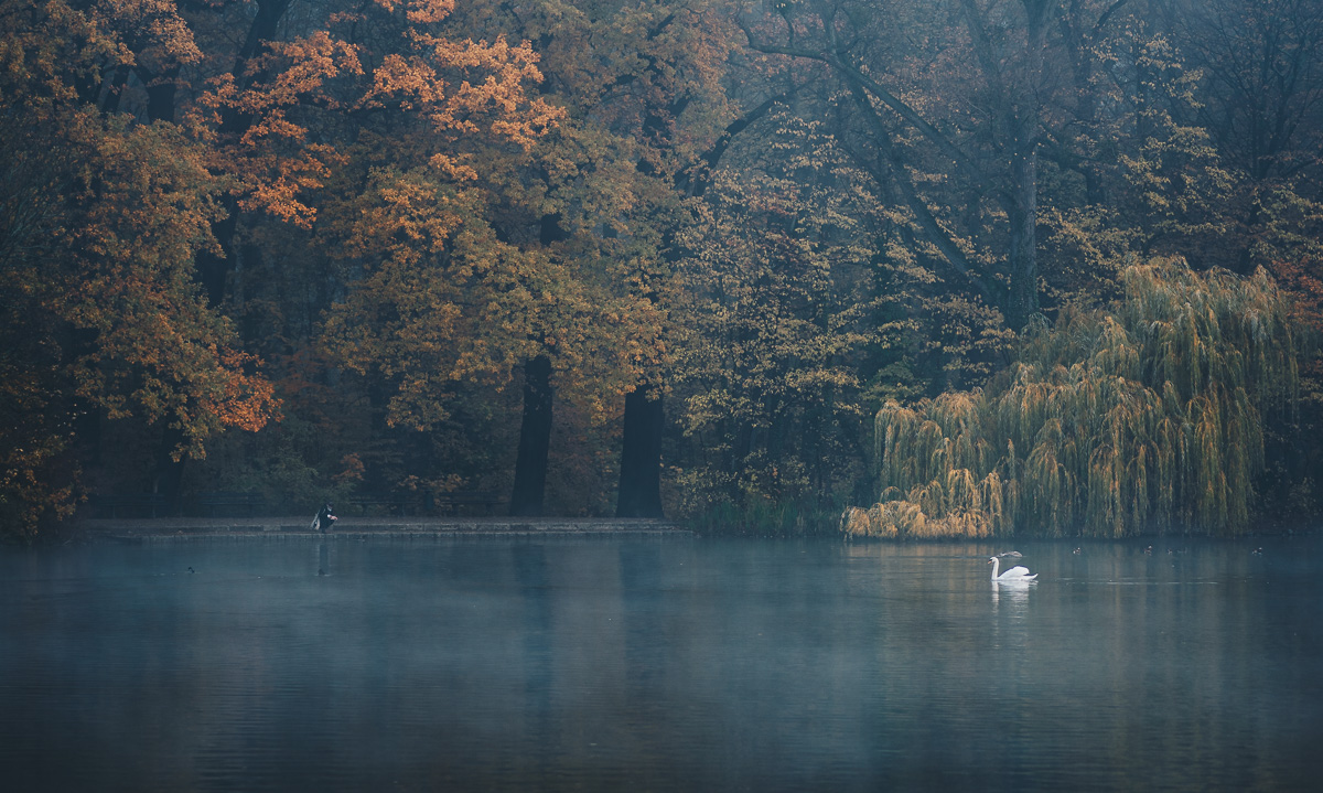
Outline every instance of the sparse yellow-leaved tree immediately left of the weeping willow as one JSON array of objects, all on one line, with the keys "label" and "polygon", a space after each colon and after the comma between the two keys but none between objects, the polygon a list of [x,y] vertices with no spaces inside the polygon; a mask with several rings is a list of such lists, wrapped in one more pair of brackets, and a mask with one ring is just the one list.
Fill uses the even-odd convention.
[{"label": "sparse yellow-leaved tree immediately left of the weeping willow", "polygon": [[701,520],[804,531],[865,466],[865,384],[905,327],[884,319],[877,201],[822,127],[774,113],[681,237],[677,466]]}]

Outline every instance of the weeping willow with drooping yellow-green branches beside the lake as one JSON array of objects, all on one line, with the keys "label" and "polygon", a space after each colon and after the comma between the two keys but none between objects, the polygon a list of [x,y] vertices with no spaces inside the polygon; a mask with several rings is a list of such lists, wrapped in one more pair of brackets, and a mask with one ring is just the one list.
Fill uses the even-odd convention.
[{"label": "weeping willow with drooping yellow-green branches beside the lake", "polygon": [[865,536],[1119,537],[1249,524],[1265,412],[1290,410],[1299,339],[1262,270],[1132,265],[1111,311],[1031,330],[986,391],[876,418],[881,498]]}]

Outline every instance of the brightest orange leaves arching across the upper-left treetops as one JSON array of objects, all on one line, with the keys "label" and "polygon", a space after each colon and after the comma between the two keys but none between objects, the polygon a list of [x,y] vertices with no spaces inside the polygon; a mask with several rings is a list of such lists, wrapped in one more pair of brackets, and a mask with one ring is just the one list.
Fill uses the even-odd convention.
[{"label": "brightest orange leaves arching across the upper-left treetops", "polygon": [[452,5],[409,3],[401,13],[400,4],[377,3],[336,15],[328,29],[269,41],[242,70],[210,81],[188,123],[214,147],[212,167],[230,176],[238,208],[310,228],[312,196],[344,164],[340,148],[311,140],[310,130],[339,123],[336,115],[429,119],[441,138],[433,165],[452,179],[475,172],[447,143],[490,134],[527,150],[553,127],[564,113],[528,94],[541,81],[531,45],[430,32]]}]

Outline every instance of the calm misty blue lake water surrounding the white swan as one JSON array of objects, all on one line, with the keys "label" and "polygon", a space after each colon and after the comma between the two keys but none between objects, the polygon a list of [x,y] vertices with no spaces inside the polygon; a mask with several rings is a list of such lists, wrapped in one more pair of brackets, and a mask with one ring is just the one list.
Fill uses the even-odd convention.
[{"label": "calm misty blue lake water surrounding the white swan", "polygon": [[1318,789],[1323,541],[1016,547],[0,548],[0,786]]}]

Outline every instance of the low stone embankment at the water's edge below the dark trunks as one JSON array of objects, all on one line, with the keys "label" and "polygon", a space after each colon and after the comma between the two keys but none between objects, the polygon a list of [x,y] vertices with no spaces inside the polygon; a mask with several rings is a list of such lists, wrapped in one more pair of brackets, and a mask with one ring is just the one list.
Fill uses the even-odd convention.
[{"label": "low stone embankment at the water's edge below the dark trunks", "polygon": [[325,534],[311,518],[116,518],[79,520],[83,536],[120,541],[187,539],[441,539],[467,536],[688,535],[673,520],[618,518],[341,518]]}]

